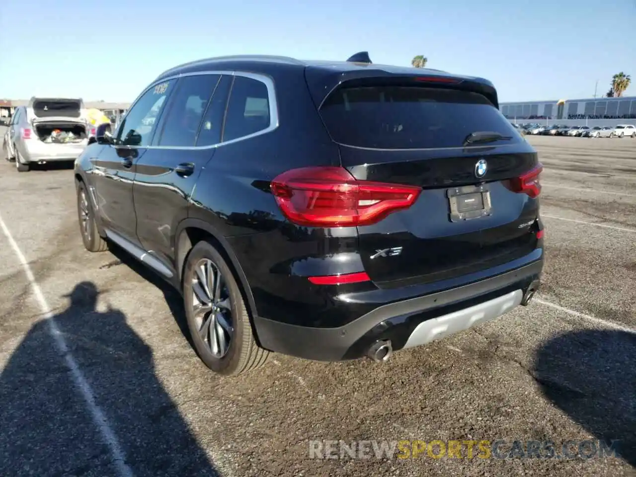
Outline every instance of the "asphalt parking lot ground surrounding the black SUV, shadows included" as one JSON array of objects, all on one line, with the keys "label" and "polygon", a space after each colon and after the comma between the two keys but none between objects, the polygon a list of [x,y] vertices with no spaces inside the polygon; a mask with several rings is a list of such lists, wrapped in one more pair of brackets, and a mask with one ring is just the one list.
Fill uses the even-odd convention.
[{"label": "asphalt parking lot ground surrounding the black SUV, shadows included", "polygon": [[[532,305],[382,365],[275,356],[239,378],[200,363],[174,291],[85,251],[70,165],[0,161],[0,475],[636,474],[636,140],[527,139]],[[622,458],[310,459],[315,439],[619,439]]]}]

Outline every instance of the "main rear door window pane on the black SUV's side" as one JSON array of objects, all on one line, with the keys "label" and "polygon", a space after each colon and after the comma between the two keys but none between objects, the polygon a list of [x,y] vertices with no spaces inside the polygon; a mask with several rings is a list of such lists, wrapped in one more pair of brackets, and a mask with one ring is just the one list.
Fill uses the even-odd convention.
[{"label": "main rear door window pane on the black SUV's side", "polygon": [[158,146],[189,147],[195,145],[197,132],[212,92],[219,82],[218,74],[185,76],[170,99],[164,114]]}]

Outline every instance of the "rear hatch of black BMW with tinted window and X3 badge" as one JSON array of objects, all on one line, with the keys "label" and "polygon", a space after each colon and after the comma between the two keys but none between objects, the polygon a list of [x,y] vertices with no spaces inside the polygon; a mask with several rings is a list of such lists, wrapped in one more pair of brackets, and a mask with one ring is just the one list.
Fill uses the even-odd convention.
[{"label": "rear hatch of black BMW with tinted window and X3 badge", "polygon": [[352,176],[422,188],[408,209],[358,226],[378,286],[452,279],[536,248],[541,165],[497,106],[494,88],[444,78],[345,81],[321,103]]}]

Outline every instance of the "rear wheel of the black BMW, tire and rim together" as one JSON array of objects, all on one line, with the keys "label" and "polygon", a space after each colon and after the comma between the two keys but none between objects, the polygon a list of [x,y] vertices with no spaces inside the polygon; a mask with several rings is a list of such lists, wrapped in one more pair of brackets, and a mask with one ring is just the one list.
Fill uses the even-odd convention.
[{"label": "rear wheel of the black BMW, tire and rim together", "polygon": [[183,273],[188,329],[198,357],[220,375],[239,375],[266,363],[270,352],[256,343],[232,270],[209,242],[198,242]]}]

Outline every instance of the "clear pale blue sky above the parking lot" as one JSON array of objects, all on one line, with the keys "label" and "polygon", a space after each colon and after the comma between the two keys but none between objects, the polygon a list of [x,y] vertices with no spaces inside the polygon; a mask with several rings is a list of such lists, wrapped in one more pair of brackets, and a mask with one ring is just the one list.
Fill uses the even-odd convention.
[{"label": "clear pale blue sky above the parking lot", "polygon": [[423,54],[490,79],[501,101],[591,97],[597,79],[601,95],[619,71],[636,83],[635,0],[0,0],[0,28],[10,99],[130,101],[169,67],[238,53]]}]

